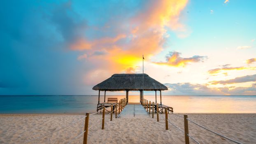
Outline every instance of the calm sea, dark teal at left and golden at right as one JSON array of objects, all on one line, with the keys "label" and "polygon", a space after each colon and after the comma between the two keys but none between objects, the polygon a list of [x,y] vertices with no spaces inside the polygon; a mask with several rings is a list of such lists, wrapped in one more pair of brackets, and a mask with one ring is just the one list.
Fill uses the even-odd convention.
[{"label": "calm sea, dark teal at left and golden at right", "polygon": [[[123,95],[107,98],[125,98]],[[155,96],[144,96],[156,101]],[[100,96],[100,102],[104,96]],[[129,96],[129,102],[140,102],[140,96]],[[157,102],[160,98],[157,96]],[[96,95],[0,95],[1,114],[86,113],[96,111]],[[176,113],[256,113],[256,96],[195,95],[162,96],[163,105]]]}]

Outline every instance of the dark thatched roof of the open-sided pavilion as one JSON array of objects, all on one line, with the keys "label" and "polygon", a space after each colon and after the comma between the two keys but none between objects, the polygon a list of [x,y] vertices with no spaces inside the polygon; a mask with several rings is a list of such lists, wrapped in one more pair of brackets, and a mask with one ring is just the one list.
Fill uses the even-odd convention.
[{"label": "dark thatched roof of the open-sided pavilion", "polygon": [[[113,74],[111,77],[93,86],[93,90],[100,91],[139,91],[142,90],[143,74]],[[163,91],[168,88],[144,74],[144,91]]]}]

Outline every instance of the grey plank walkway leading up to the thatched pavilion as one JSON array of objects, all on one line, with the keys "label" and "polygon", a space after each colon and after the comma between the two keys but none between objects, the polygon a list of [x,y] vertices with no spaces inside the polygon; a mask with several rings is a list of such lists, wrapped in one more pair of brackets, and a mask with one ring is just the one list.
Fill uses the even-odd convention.
[{"label": "grey plank walkway leading up to the thatched pavilion", "polygon": [[149,114],[140,103],[128,103],[118,118],[149,118]]}]

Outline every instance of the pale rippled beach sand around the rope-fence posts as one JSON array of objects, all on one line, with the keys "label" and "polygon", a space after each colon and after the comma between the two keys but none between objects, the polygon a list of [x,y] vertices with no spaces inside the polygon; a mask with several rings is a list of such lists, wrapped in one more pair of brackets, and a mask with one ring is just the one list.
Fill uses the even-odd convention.
[{"label": "pale rippled beach sand around the rope-fence posts", "polygon": [[[231,139],[242,143],[256,144],[256,114],[188,114],[193,121],[219,132]],[[84,129],[84,119],[78,123],[60,130],[84,115],[76,114],[1,114],[0,115],[0,144],[19,144],[30,139],[42,137],[30,144],[58,144],[69,143]],[[164,115],[162,115],[164,116]],[[114,115],[113,115],[114,117]],[[179,128],[184,129],[184,120],[178,116],[168,114],[169,120]],[[88,143],[102,144],[184,144],[184,133],[169,124],[165,130],[165,122],[155,118],[113,118],[105,119],[105,130],[101,130],[102,115],[90,116]],[[202,144],[232,144],[211,132],[189,122],[189,133]],[[48,135],[47,135],[48,134]],[[83,135],[73,143],[82,143]],[[193,140],[190,139],[193,144]]]}]

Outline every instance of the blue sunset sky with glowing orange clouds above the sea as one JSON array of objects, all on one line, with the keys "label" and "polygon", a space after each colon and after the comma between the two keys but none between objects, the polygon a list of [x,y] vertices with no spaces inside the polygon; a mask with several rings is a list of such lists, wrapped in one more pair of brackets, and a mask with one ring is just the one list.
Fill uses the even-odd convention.
[{"label": "blue sunset sky with glowing orange clouds above the sea", "polygon": [[97,95],[142,55],[163,95],[256,95],[255,0],[0,3],[0,95]]}]

